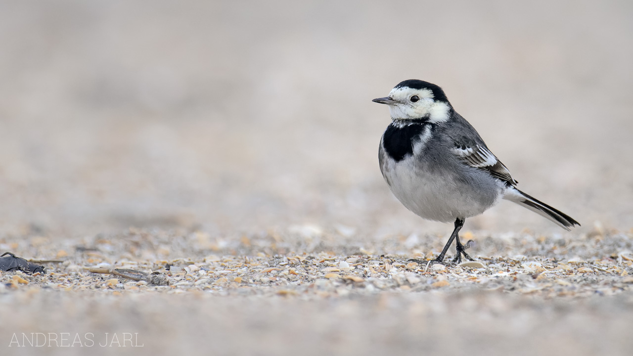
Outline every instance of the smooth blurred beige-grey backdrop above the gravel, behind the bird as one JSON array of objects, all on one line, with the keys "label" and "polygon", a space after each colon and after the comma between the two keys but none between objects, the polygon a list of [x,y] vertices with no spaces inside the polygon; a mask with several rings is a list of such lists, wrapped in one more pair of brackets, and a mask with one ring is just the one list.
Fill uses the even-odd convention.
[{"label": "smooth blurred beige-grey backdrop above the gravel, behind the bird", "polygon": [[[380,175],[371,99],[404,79],[442,86],[577,231],[628,230],[632,19],[630,1],[3,1],[0,234],[448,234]],[[563,233],[509,202],[467,221],[525,228]]]}]

